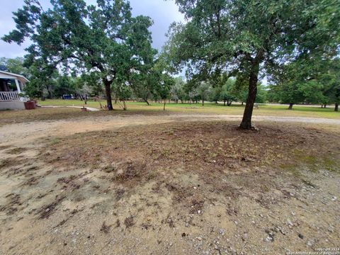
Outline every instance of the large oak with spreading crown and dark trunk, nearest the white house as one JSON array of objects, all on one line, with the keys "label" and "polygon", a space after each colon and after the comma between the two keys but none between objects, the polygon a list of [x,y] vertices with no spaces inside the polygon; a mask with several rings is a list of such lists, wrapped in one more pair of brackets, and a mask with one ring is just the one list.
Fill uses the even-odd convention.
[{"label": "large oak with spreading crown and dark trunk, nearest the white house", "polygon": [[[13,13],[16,29],[3,37],[6,42],[21,44],[27,38],[26,60],[43,62],[52,68],[74,68],[97,72],[105,85],[107,106],[113,109],[111,84],[126,81],[130,72],[152,61],[152,20],[132,17],[128,1],[51,0],[44,10],[38,0],[25,0]],[[143,67],[144,68],[144,67]]]}]

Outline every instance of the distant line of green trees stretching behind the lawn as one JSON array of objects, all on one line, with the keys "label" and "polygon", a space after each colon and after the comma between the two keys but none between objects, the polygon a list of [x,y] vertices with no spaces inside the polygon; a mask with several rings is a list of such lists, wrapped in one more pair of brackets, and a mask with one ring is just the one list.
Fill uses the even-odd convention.
[{"label": "distant line of green trees stretching behind the lawn", "polygon": [[[286,76],[280,79],[271,77],[272,83],[264,85],[258,83],[256,103],[285,103],[288,109],[294,104],[320,104],[322,107],[334,104],[334,111],[339,111],[340,101],[340,60],[334,59],[319,64],[317,73],[313,73],[311,66],[308,71],[302,70],[299,64],[299,72],[293,67],[287,67]],[[22,74],[32,82],[26,86],[26,94],[33,98],[62,98],[64,95],[72,95],[74,98],[105,98],[105,87],[96,73],[81,74],[72,77],[67,74],[55,72],[52,79],[35,79],[30,73],[30,68],[24,66],[22,57],[8,59],[2,57],[0,65],[8,72]],[[316,69],[317,67],[314,67]],[[292,76],[289,77],[289,72]],[[300,74],[300,77],[297,76]],[[182,77],[148,77],[146,81],[111,85],[112,98],[123,103],[128,100],[144,101],[149,105],[150,101],[170,100],[174,103],[202,103],[205,101],[222,103],[231,106],[233,102],[246,102],[248,90],[246,82],[237,77],[219,77],[217,81],[186,81]],[[39,82],[37,82],[39,81]],[[162,86],[159,86],[161,85]],[[126,105],[124,106],[126,108]]]}]

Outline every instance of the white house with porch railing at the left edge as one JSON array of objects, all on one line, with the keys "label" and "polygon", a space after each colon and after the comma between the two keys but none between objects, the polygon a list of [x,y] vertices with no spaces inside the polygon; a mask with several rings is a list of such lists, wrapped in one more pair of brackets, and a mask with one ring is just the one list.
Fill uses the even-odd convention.
[{"label": "white house with porch railing at the left edge", "polygon": [[26,82],[28,79],[20,74],[0,71],[0,110],[25,109],[26,98],[19,94],[23,93]]}]

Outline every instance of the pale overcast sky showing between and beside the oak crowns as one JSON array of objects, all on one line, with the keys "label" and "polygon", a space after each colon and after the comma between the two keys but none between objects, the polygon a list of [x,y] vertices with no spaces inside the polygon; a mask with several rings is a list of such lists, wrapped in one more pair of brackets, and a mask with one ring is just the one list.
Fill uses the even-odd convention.
[{"label": "pale overcast sky showing between and beside the oak crowns", "polygon": [[[0,37],[7,34],[15,28],[12,19],[12,12],[23,6],[23,0],[0,0]],[[93,4],[96,0],[86,0],[87,3]],[[40,0],[44,8],[49,6],[50,0]],[[146,15],[154,20],[151,28],[153,46],[160,50],[166,38],[165,33],[173,21],[183,21],[183,15],[179,13],[174,1],[164,0],[130,0],[133,16]],[[26,54],[25,48],[29,42],[23,43],[21,46],[14,43],[9,44],[0,40],[0,57],[23,57]]]}]

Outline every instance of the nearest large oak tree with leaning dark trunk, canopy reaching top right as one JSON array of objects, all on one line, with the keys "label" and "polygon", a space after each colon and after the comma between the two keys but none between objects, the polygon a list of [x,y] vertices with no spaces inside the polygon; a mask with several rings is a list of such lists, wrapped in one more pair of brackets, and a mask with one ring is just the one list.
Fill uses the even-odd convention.
[{"label": "nearest large oak tree with leaning dark trunk, canopy reaching top right", "polygon": [[[240,128],[251,129],[261,74],[310,55],[336,55],[339,0],[176,0],[186,23],[174,23],[164,47],[189,76],[242,73],[248,98]],[[237,74],[239,75],[239,74]],[[206,75],[205,75],[206,77]]]}]

